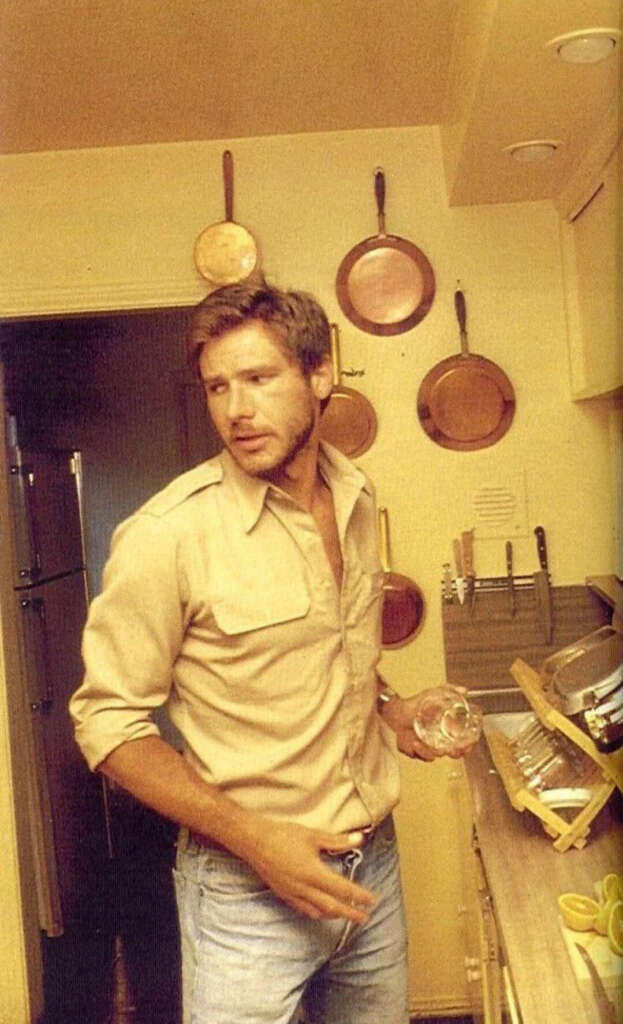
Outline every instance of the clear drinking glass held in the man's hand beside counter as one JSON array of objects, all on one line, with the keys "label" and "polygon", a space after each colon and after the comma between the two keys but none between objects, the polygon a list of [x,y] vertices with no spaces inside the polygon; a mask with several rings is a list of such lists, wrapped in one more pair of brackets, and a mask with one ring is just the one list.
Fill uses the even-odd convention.
[{"label": "clear drinking glass held in the man's hand beside counter", "polygon": [[453,686],[430,686],[416,697],[413,728],[426,746],[440,754],[459,754],[475,743],[483,712]]}]

